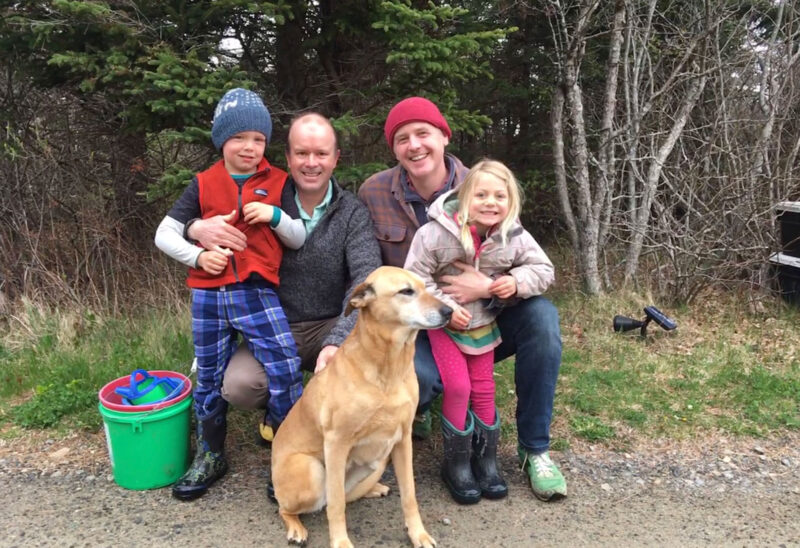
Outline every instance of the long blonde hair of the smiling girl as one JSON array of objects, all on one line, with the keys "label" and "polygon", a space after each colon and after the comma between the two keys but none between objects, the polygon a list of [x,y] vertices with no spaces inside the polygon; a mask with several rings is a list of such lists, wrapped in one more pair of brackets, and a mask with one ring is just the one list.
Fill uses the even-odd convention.
[{"label": "long blonde hair of the smiling girl", "polygon": [[480,181],[492,177],[503,182],[508,191],[508,213],[506,218],[500,222],[500,238],[503,245],[508,243],[508,233],[511,226],[519,218],[522,210],[522,191],[519,183],[505,164],[497,160],[483,159],[469,170],[464,182],[458,188],[458,223],[461,225],[461,245],[467,252],[467,256],[475,255],[475,244],[472,240],[472,233],[469,230],[469,208],[472,205],[473,189]]}]

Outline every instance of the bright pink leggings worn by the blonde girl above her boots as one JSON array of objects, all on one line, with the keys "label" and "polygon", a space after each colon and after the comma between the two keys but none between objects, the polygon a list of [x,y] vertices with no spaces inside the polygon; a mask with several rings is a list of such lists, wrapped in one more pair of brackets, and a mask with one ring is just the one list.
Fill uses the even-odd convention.
[{"label": "bright pink leggings worn by the blonde girl above her boots", "polygon": [[433,359],[442,377],[442,415],[450,424],[464,430],[467,408],[485,424],[493,425],[494,405],[494,351],[483,354],[464,354],[444,331],[428,331]]}]

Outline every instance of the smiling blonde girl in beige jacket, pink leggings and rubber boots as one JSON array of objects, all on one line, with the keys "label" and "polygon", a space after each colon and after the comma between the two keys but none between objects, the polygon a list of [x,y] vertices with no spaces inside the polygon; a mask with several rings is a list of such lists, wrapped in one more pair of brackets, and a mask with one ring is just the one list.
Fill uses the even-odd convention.
[{"label": "smiling blonde girl in beige jacket, pink leggings and rubber boots", "polygon": [[[495,317],[504,301],[540,295],[553,281],[553,264],[519,222],[520,202],[505,165],[479,162],[430,207],[430,222],[417,231],[405,263],[453,308],[448,326],[428,336],[444,386],[442,479],[461,504],[508,494],[496,459],[493,349],[501,341]],[[443,276],[461,273],[458,262],[491,278],[486,299],[459,303],[442,290]]]}]

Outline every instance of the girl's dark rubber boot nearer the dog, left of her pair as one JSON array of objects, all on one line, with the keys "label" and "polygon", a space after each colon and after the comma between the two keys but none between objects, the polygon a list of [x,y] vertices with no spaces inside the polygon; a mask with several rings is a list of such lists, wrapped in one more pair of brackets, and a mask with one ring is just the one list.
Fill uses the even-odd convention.
[{"label": "girl's dark rubber boot nearer the dog, left of her pair", "polygon": [[459,504],[475,504],[481,500],[481,489],[469,464],[472,445],[473,421],[467,413],[467,427],[462,432],[442,415],[444,460],[442,480],[453,499]]}]

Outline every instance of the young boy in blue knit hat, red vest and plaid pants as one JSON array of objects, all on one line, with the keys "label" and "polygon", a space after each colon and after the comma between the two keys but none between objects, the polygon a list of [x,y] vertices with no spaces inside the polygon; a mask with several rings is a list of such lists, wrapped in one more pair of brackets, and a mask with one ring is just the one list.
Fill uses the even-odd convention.
[{"label": "young boy in blue knit hat, red vest and plaid pants", "polygon": [[[197,453],[172,488],[181,500],[203,495],[227,471],[227,402],[221,387],[237,332],[267,373],[269,426],[280,426],[303,389],[300,358],[275,288],[283,253],[276,235],[297,249],[305,229],[301,220],[277,207],[286,172],[264,158],[271,134],[272,120],[261,98],[245,89],[228,91],[211,127],[222,159],[195,176],[156,231],[158,248],[189,266],[187,285],[192,288]],[[190,219],[217,215],[244,233],[242,251],[204,250],[184,239]]]}]

